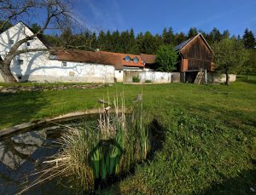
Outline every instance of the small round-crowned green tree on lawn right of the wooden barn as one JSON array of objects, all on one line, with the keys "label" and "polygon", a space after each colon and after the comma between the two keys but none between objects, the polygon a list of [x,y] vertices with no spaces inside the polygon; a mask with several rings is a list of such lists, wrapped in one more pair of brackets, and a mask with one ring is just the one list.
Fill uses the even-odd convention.
[{"label": "small round-crowned green tree on lawn right of the wooden barn", "polygon": [[226,75],[225,84],[229,85],[229,74],[241,70],[248,60],[248,51],[241,41],[230,38],[224,38],[219,43],[213,43],[212,49],[215,54],[217,71]]}]

